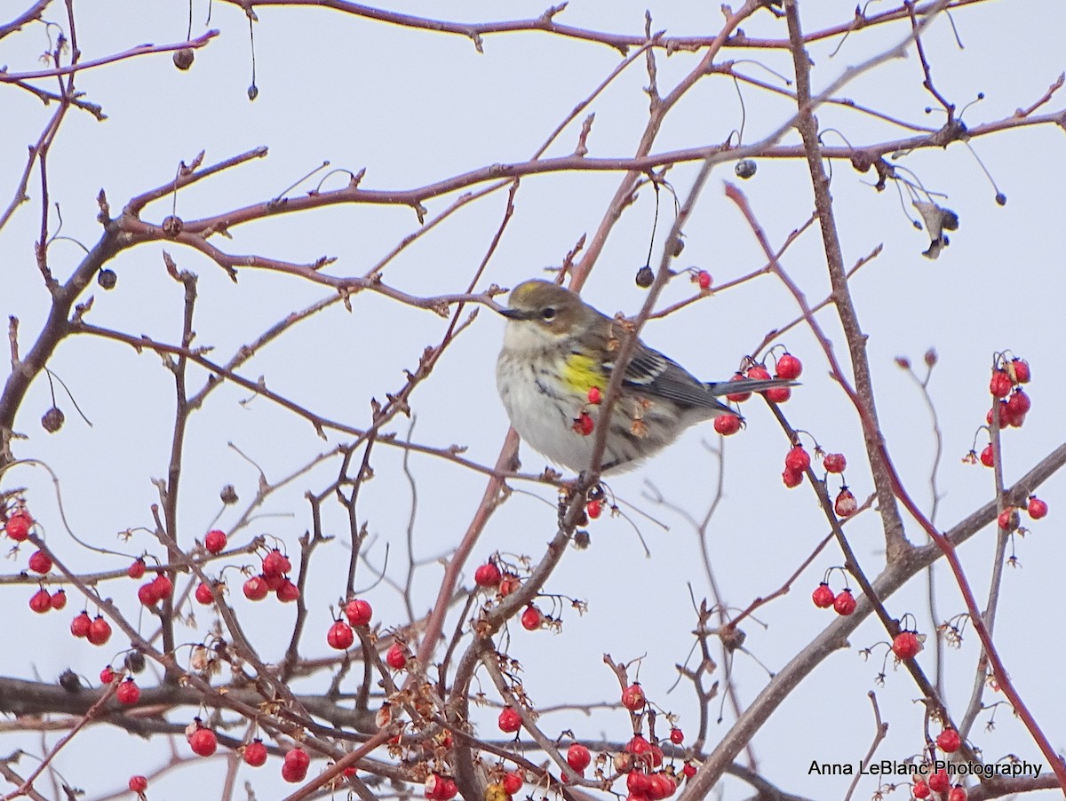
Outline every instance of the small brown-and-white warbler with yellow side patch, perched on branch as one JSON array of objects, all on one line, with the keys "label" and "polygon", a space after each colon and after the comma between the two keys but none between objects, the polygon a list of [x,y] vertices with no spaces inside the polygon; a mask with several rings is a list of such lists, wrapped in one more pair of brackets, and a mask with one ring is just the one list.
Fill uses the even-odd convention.
[{"label": "small brown-and-white warbler with yellow side patch, perched on branch", "polygon": [[[621,329],[576,293],[536,279],[515,287],[500,313],[508,322],[496,386],[511,424],[551,461],[587,470]],[[782,378],[704,382],[637,340],[612,409],[601,472],[631,470],[689,426],[737,414],[718,400],[722,395],[794,383]]]}]

